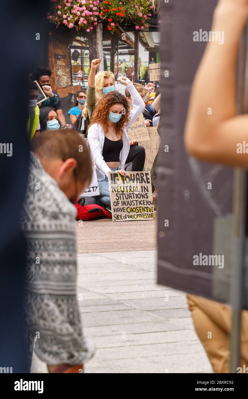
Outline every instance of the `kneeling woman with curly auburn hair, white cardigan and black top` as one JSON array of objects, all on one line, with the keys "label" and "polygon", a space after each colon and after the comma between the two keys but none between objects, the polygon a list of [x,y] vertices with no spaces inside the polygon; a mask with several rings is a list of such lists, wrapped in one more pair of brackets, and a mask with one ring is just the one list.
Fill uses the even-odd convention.
[{"label": "kneeling woman with curly auburn hair, white cardigan and black top", "polygon": [[106,94],[95,106],[88,128],[88,142],[96,167],[100,200],[110,207],[108,172],[116,171],[125,176],[125,162],[129,154],[127,128],[139,117],[145,103],[127,78],[118,78],[131,93],[134,108],[129,111],[125,96],[118,91]]}]

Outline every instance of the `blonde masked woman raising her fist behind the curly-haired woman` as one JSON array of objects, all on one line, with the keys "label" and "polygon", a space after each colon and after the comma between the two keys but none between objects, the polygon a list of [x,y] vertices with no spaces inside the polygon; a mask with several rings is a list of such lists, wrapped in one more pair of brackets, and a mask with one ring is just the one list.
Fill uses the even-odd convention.
[{"label": "blonde masked woman raising her fist behind the curly-haired woman", "polygon": [[[96,74],[96,69],[101,63],[101,58],[93,59],[91,62],[90,73],[88,77],[88,90],[86,106],[82,111],[84,119],[91,119],[94,107],[102,99],[102,97],[112,91],[115,91],[115,76],[110,71],[100,71]],[[118,80],[121,78],[118,78]],[[145,108],[145,104],[144,104]],[[88,126],[88,123],[86,122]],[[126,168],[128,164],[132,163],[132,171],[141,172],[145,164],[145,148],[137,145],[137,140],[129,142],[130,150],[126,159]]]}]

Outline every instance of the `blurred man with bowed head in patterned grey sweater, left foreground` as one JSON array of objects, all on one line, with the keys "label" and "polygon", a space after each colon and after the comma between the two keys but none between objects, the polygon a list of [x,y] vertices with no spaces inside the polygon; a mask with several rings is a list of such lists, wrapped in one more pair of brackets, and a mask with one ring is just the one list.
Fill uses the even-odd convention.
[{"label": "blurred man with bowed head in patterned grey sweater, left foreground", "polygon": [[[32,140],[21,227],[28,243],[25,316],[29,362],[49,373],[80,373],[94,353],[84,338],[76,298],[76,202],[90,184],[92,162],[75,130],[45,130]],[[38,334],[38,335],[37,335]]]}]

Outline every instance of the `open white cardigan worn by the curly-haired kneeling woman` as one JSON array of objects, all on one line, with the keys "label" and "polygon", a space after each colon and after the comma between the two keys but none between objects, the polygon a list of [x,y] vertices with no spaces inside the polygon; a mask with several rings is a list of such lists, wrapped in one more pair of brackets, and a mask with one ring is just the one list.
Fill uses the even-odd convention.
[{"label": "open white cardigan worn by the curly-haired kneeling woman", "polygon": [[[145,108],[145,103],[141,98],[141,95],[135,89],[133,83],[129,83],[126,86],[133,100],[133,109],[130,111],[130,121],[129,124],[123,130],[123,148],[120,153],[120,168],[124,169],[126,159],[129,153],[129,138],[127,135],[127,128],[129,128],[133,122],[141,115],[143,109]],[[101,182],[110,172],[110,168],[107,166],[106,162],[103,160],[102,149],[105,140],[103,127],[99,123],[94,123],[90,126],[88,130],[88,142],[90,146],[90,152],[92,160],[95,164],[96,174],[98,181]]]}]

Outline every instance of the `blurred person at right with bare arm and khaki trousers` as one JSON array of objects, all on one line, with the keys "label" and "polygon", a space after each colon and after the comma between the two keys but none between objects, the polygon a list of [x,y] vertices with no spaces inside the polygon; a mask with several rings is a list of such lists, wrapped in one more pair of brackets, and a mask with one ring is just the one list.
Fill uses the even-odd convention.
[{"label": "blurred person at right with bare arm and khaki trousers", "polygon": [[[248,169],[248,115],[237,115],[236,65],[238,46],[248,19],[248,0],[219,0],[211,31],[225,32],[223,45],[209,41],[193,82],[185,129],[187,152],[202,161]],[[208,115],[209,107],[212,115]],[[229,372],[229,306],[187,295],[195,330],[215,373]],[[208,339],[208,331],[212,339]],[[248,366],[248,311],[242,311],[240,367]],[[238,371],[237,372],[242,372]]]}]

